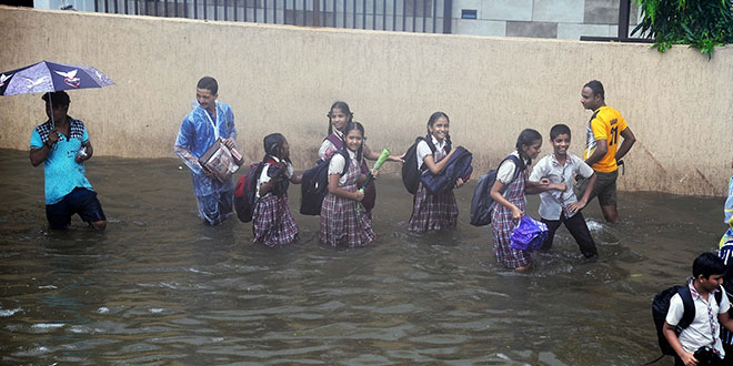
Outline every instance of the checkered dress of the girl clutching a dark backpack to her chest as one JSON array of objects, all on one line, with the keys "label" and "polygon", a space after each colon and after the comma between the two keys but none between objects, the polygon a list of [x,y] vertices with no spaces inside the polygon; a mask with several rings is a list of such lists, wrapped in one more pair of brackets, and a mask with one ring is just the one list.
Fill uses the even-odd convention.
[{"label": "checkered dress of the girl clutching a dark backpack to her chest", "polygon": [[[439,162],[445,157],[445,153],[435,151],[433,156],[435,157],[435,162]],[[415,192],[412,216],[410,216],[408,230],[415,233],[422,233],[429,230],[448,230],[454,228],[456,223],[458,205],[455,204],[453,191],[432,195],[428,193],[428,190],[420,182],[418,192]]]}]

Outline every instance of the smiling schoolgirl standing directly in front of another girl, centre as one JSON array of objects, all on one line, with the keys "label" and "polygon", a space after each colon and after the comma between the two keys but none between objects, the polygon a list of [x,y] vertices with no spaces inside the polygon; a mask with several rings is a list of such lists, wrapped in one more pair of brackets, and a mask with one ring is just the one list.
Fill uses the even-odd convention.
[{"label": "smiling schoolgirl standing directly in front of another girl, centre", "polygon": [[[359,191],[366,175],[361,172],[363,159],[364,128],[359,122],[349,122],[344,128],[349,160],[334,154],[329,163],[329,193],[321,206],[319,238],[332,246],[364,246],[376,235],[366,210],[361,204],[364,193]],[[347,173],[341,175],[345,164]],[[373,172],[376,177],[378,172]]]}]

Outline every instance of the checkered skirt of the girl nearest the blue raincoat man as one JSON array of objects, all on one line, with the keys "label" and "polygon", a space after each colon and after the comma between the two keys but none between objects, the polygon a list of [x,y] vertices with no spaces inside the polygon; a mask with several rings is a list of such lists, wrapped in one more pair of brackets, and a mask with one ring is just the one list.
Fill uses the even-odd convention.
[{"label": "checkered skirt of the girl nearest the blue raincoat man", "polygon": [[253,242],[269,246],[290,244],[298,238],[300,230],[288,206],[288,194],[268,194],[259,199],[252,213]]}]

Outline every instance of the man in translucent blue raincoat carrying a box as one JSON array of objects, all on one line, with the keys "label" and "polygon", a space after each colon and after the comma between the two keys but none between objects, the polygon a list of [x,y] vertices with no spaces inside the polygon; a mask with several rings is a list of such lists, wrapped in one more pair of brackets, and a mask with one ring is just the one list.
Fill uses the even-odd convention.
[{"label": "man in translucent blue raincoat carrying a box", "polygon": [[211,77],[199,80],[195,99],[199,102],[183,119],[178,138],[175,153],[191,169],[193,194],[199,206],[199,216],[217,225],[232,214],[234,202],[234,182],[230,176],[223,183],[201,167],[199,157],[221,138],[230,149],[237,148],[234,114],[227,103],[217,101],[219,84]]}]

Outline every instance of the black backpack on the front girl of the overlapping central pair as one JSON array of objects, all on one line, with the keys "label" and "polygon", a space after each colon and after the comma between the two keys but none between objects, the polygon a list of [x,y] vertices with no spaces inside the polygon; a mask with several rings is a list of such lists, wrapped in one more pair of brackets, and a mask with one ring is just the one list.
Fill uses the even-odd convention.
[{"label": "black backpack on the front girl of the overlapping central pair", "polygon": [[[347,174],[349,170],[349,164],[351,163],[349,159],[349,153],[339,149],[337,154],[341,154],[345,159],[347,163],[343,165],[343,172],[341,176]],[[335,156],[335,154],[333,154]],[[331,156],[331,159],[333,157]],[[300,186],[300,213],[303,215],[320,215],[321,206],[323,205],[323,199],[329,193],[329,163],[331,159],[327,161],[319,161],[315,163],[315,166],[303,172],[303,181]]]}]

